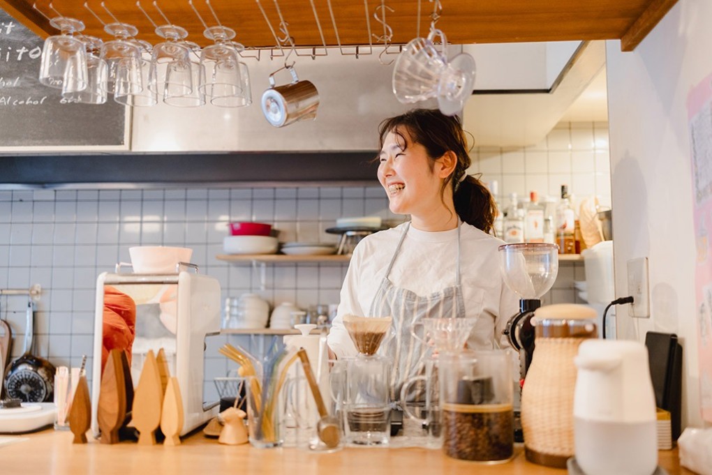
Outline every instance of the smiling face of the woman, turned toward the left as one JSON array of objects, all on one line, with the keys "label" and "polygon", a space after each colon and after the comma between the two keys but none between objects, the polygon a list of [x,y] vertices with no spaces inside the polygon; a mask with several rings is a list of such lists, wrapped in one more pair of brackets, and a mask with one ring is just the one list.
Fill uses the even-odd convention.
[{"label": "smiling face of the woman, turned toward the left", "polygon": [[404,137],[387,134],[379,161],[378,180],[393,213],[425,218],[427,213],[442,210],[438,161],[429,159],[425,147],[412,143],[407,132]]}]

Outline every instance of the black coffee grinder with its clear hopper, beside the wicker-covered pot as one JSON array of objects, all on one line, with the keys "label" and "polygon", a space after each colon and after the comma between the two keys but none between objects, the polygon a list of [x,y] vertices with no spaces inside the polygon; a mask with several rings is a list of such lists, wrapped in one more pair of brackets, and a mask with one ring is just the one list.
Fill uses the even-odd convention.
[{"label": "black coffee grinder with its clear hopper, beside the wicker-covered pot", "polygon": [[519,242],[499,247],[500,269],[507,287],[519,297],[519,312],[511,316],[503,333],[519,351],[524,379],[534,352],[531,319],[541,306],[540,297],[551,289],[559,272],[559,247],[546,242]]}]

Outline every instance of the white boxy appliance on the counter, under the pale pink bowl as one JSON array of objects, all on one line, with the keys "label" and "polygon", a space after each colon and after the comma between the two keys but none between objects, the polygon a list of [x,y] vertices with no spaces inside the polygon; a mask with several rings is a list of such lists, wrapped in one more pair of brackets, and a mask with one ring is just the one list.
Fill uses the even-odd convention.
[{"label": "white boxy appliance on the counter, under the pale pink bowl", "polygon": [[[105,289],[112,295],[125,294],[136,304],[135,335],[125,345],[131,355],[131,376],[138,383],[144,358],[149,350],[164,349],[170,375],[178,378],[183,401],[184,422],[180,432],[192,429],[217,415],[219,401],[204,400],[204,351],[206,338],[220,332],[220,284],[217,279],[197,274],[197,266],[181,263],[173,274],[126,274],[104,272],[97,279],[94,365],[92,375],[92,430],[99,434],[98,400],[102,353],[122,338],[111,338],[115,331],[105,322]],[[192,270],[189,272],[186,269]],[[111,313],[111,311],[109,311]],[[118,320],[120,323],[120,320]],[[130,334],[130,331],[127,332]],[[128,408],[130,409],[130,408]]]}]

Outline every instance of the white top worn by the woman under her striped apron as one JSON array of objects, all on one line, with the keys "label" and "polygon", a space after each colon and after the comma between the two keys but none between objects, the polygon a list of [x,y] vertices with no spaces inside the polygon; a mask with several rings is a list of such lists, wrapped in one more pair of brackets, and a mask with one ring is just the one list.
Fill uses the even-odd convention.
[{"label": "white top worn by the woman under her striped apron", "polygon": [[[369,316],[372,301],[402,235],[404,226],[365,237],[356,246],[341,288],[329,347],[337,357],[356,354],[344,325],[347,314]],[[428,232],[411,225],[388,276],[396,287],[429,295],[456,284],[457,229]],[[502,330],[519,310],[518,297],[503,282],[497,248],[504,242],[463,223],[460,230],[460,274],[465,311],[478,317],[468,346],[474,349],[509,345]]]}]

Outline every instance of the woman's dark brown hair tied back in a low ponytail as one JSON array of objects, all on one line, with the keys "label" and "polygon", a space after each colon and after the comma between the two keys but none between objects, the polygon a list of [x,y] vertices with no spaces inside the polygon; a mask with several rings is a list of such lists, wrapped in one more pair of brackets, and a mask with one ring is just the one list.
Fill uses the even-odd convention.
[{"label": "woman's dark brown hair tied back in a low ponytail", "polygon": [[487,187],[475,176],[467,175],[472,161],[460,119],[447,116],[439,110],[429,109],[414,109],[385,119],[378,127],[379,149],[383,148],[383,142],[389,132],[401,137],[406,146],[404,133],[407,133],[414,144],[424,146],[432,161],[439,159],[446,151],[455,154],[455,170],[445,178],[441,193],[452,183],[457,215],[465,223],[489,233],[497,214],[497,206]]}]

